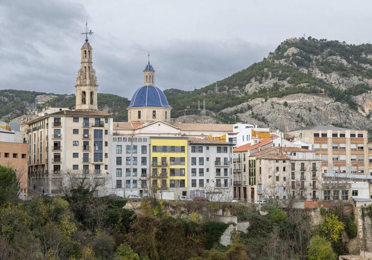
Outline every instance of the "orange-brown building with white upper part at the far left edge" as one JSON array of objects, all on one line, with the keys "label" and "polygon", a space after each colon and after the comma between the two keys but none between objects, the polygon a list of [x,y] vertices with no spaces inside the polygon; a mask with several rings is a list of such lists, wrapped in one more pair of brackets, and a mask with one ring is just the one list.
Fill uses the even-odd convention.
[{"label": "orange-brown building with white upper part at the far left edge", "polygon": [[15,170],[19,178],[20,192],[25,198],[28,195],[27,156],[27,144],[23,141],[23,133],[0,127],[0,165]]}]

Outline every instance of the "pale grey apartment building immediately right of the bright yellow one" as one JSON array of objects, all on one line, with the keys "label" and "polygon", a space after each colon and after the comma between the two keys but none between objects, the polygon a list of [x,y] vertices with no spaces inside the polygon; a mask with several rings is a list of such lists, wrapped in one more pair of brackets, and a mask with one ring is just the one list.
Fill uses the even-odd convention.
[{"label": "pale grey apartment building immediately right of the bright yellow one", "polygon": [[188,183],[190,196],[230,201],[233,144],[189,137]]}]

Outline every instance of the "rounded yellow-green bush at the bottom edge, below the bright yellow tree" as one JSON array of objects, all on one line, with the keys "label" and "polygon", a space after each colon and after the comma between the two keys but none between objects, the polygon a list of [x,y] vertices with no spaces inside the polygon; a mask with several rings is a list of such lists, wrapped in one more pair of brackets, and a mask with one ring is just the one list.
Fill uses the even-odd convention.
[{"label": "rounded yellow-green bush at the bottom edge, below the bright yellow tree", "polygon": [[310,244],[307,247],[308,260],[334,260],[336,257],[331,242],[319,235],[314,235],[311,238]]}]

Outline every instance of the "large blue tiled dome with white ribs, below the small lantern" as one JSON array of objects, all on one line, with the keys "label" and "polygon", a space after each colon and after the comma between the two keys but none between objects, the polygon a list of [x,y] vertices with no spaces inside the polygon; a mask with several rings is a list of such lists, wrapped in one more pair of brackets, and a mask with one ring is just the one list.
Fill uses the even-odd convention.
[{"label": "large blue tiled dome with white ribs, below the small lantern", "polygon": [[129,104],[128,108],[131,107],[171,108],[163,91],[155,86],[143,86],[134,92],[131,104]]}]

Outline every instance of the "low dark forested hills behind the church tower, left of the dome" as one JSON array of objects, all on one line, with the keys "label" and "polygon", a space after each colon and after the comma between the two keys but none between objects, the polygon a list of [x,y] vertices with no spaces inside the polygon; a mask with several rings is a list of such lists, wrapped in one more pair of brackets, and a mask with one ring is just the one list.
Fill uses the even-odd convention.
[{"label": "low dark forested hills behind the church tower, left of the dome", "polygon": [[[114,121],[128,120],[126,107],[129,100],[113,94],[97,94],[98,108],[112,113]],[[44,107],[75,106],[75,95],[60,95],[53,93],[25,91],[25,90],[0,90],[0,121],[9,122],[14,118],[24,116],[33,111],[40,111]]]}]

